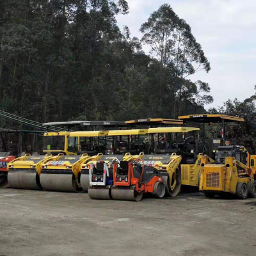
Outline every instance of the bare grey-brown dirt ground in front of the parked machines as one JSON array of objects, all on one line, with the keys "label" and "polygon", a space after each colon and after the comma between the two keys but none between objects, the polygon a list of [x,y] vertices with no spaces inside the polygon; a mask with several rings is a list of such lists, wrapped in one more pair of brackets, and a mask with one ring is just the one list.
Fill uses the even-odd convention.
[{"label": "bare grey-brown dirt ground in front of the parked machines", "polygon": [[0,190],[0,256],[256,255],[256,199]]}]

